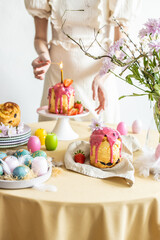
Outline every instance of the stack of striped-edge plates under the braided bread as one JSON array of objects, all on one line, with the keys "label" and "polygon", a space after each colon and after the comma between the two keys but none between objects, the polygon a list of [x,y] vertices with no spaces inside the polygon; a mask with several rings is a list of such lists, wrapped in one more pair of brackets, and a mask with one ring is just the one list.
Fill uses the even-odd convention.
[{"label": "stack of striped-edge plates under the braided bread", "polygon": [[24,145],[31,136],[31,129],[24,124],[23,132],[12,137],[0,137],[0,148],[12,148]]}]

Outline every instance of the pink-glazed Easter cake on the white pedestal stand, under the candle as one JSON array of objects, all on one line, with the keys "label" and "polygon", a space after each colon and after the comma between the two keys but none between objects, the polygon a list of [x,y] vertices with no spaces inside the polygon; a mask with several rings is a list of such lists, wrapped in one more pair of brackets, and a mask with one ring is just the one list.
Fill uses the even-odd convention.
[{"label": "pink-glazed Easter cake on the white pedestal stand, under the candle", "polygon": [[48,91],[48,111],[56,114],[68,115],[74,107],[75,90],[72,87],[73,80],[65,79],[63,83],[57,83]]}]

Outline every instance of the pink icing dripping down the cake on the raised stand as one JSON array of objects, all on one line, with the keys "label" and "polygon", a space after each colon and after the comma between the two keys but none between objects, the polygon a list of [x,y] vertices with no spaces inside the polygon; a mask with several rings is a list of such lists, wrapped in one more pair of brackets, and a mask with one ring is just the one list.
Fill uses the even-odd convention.
[{"label": "pink icing dripping down the cake on the raised stand", "polygon": [[55,113],[58,114],[58,100],[60,99],[60,113],[63,114],[63,102],[62,97],[63,95],[66,95],[68,97],[68,111],[69,111],[69,103],[71,95],[75,95],[74,88],[70,85],[69,87],[65,87],[63,83],[57,83],[56,85],[49,88],[48,91],[48,99],[49,99],[49,106],[50,109],[51,106],[51,96],[52,96],[52,89],[54,89],[55,93]]}]

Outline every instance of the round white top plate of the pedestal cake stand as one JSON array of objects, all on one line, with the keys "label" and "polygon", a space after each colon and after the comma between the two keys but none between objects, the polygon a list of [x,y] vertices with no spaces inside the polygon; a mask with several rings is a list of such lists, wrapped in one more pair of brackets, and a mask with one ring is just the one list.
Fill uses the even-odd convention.
[{"label": "round white top plate of the pedestal cake stand", "polygon": [[50,117],[50,118],[79,118],[79,117],[85,117],[89,114],[89,111],[83,111],[83,113],[77,114],[77,115],[72,115],[68,116],[65,114],[56,114],[56,113],[50,113],[48,111],[48,106],[43,106],[37,109],[37,113],[40,115],[43,115],[45,117]]}]

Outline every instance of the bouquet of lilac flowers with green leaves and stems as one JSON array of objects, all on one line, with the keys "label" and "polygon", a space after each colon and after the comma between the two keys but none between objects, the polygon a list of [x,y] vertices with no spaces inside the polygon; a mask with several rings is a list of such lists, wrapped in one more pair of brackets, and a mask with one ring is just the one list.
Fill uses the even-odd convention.
[{"label": "bouquet of lilac flowers with green leaves and stems", "polygon": [[[160,133],[160,18],[149,19],[144,24],[139,31],[137,44],[117,24],[126,38],[109,47],[99,74],[111,72],[141,91],[119,99],[146,95],[150,101],[154,101],[154,119]],[[116,66],[121,68],[118,74],[114,71]]]}]

